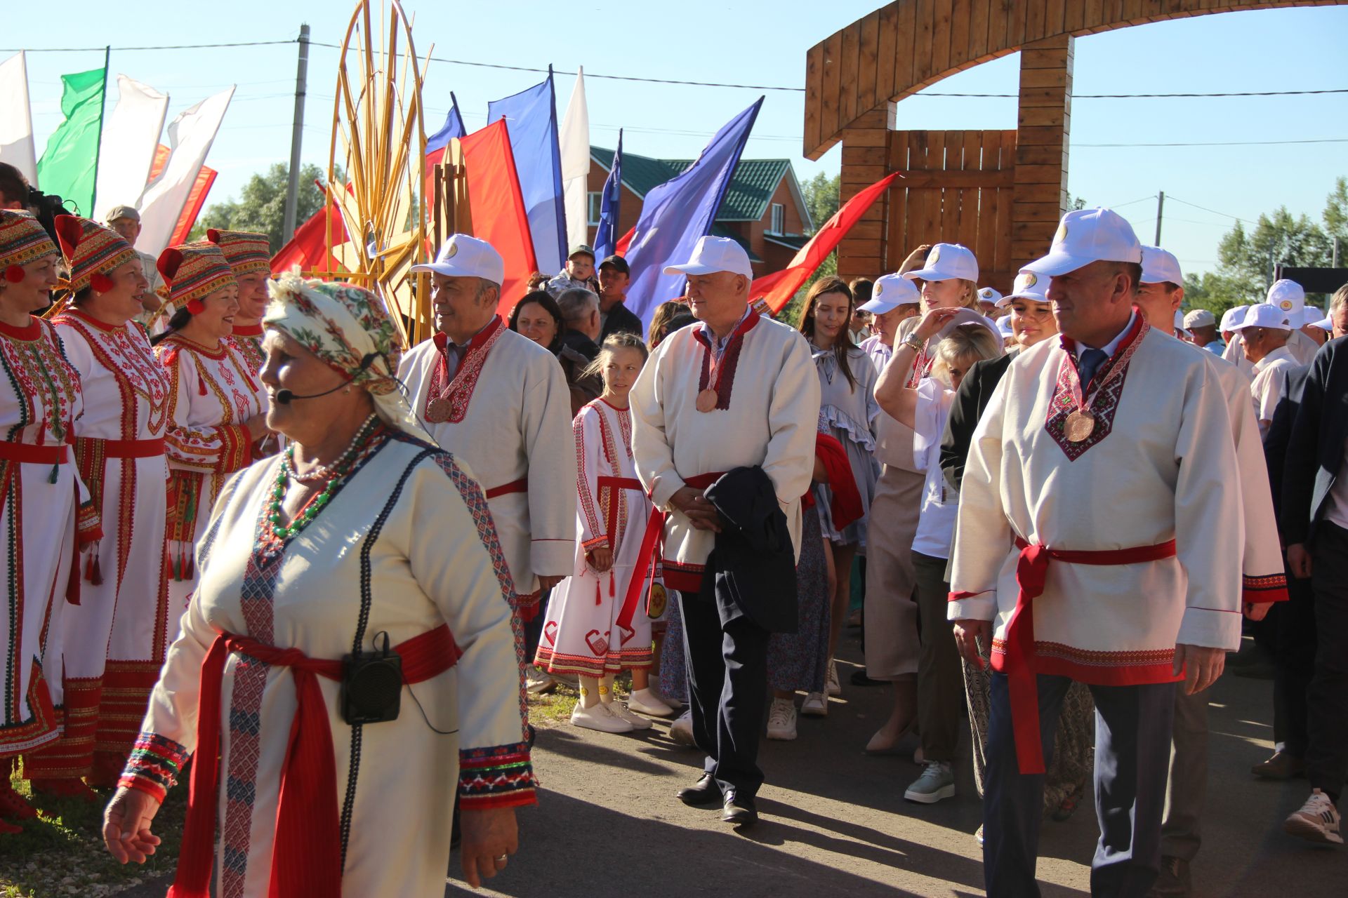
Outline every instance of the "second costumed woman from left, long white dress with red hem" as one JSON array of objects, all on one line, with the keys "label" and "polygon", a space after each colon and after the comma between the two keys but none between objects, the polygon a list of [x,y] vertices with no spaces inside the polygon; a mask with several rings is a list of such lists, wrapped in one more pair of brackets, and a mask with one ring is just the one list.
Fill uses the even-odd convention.
[{"label": "second costumed woman from left, long white dress with red hem", "polygon": [[71,302],[53,324],[85,394],[74,456],[105,524],[66,613],[65,732],[24,773],[97,801],[80,778],[116,784],[178,619],[164,564],[168,376],[135,322],[147,283],[131,245],[73,215],[57,218],[57,234]]}]

